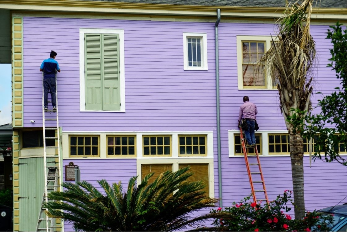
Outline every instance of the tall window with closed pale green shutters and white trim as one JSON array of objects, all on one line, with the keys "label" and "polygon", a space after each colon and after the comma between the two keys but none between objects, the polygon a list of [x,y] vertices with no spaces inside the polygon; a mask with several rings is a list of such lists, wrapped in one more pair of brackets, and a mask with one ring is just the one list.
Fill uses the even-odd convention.
[{"label": "tall window with closed pale green shutters and white trim", "polygon": [[81,111],[124,111],[124,31],[80,29]]}]

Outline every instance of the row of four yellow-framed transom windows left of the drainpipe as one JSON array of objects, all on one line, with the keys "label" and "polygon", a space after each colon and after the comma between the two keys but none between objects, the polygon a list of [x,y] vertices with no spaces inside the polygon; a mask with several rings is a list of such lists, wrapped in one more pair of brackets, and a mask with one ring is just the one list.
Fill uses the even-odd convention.
[{"label": "row of four yellow-framed transom windows left of the drainpipe", "polygon": [[[106,135],[107,157],[136,157],[136,135]],[[69,135],[69,157],[100,157],[100,135]],[[172,135],[142,135],[143,157],[171,157]],[[206,135],[178,135],[178,156],[207,156]]]}]

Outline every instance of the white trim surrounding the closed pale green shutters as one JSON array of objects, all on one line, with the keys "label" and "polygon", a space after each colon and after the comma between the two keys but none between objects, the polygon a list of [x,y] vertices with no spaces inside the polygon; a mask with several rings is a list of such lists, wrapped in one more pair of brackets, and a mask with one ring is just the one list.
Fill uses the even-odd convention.
[{"label": "white trim surrounding the closed pale green shutters", "polygon": [[[119,34],[120,65],[120,110],[85,110],[85,73],[84,73],[84,34]],[[79,110],[81,112],[125,112],[125,65],[124,65],[124,30],[106,28],[79,28]]]}]

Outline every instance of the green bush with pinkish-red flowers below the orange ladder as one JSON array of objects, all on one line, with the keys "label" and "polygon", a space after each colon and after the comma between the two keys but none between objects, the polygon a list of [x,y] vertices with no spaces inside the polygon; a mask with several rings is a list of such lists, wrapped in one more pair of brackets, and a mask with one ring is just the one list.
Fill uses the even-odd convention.
[{"label": "green bush with pinkish-red flowers below the orange ladder", "polygon": [[225,210],[218,208],[211,210],[211,213],[225,213],[232,215],[233,219],[218,218],[213,225],[219,231],[329,231],[329,224],[332,224],[332,216],[320,216],[320,213],[306,212],[303,219],[292,219],[287,214],[291,208],[287,203],[293,204],[291,194],[293,192],[285,190],[283,196],[278,196],[276,200],[269,204],[250,201],[251,197],[246,197],[239,203],[234,202],[232,207]]}]

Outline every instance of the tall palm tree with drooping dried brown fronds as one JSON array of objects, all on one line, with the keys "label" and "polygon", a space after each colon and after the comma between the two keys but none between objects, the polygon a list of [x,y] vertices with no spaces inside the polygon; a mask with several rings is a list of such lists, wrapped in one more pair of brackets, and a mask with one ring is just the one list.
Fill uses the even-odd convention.
[{"label": "tall palm tree with drooping dried brown fronds", "polygon": [[290,138],[295,218],[301,218],[305,213],[304,149],[302,136],[287,119],[295,115],[303,120],[305,114],[302,112],[311,109],[311,71],[316,55],[315,42],[310,34],[312,1],[287,5],[284,16],[278,20],[277,40],[258,63],[258,67],[263,66],[278,83],[280,109]]}]

